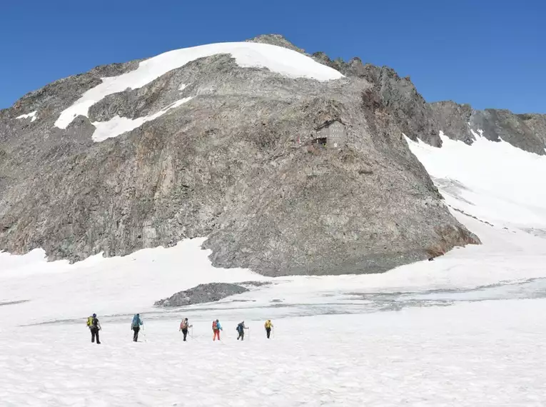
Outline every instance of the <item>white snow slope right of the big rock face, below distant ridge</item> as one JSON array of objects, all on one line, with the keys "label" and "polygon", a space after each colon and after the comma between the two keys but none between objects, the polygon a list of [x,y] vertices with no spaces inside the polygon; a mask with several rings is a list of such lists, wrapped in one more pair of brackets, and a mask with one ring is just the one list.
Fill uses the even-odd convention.
[{"label": "white snow slope right of the big rock face, below distant ridge", "polygon": [[546,231],[546,156],[481,133],[471,146],[440,133],[440,149],[406,140],[448,205],[495,226]]}]

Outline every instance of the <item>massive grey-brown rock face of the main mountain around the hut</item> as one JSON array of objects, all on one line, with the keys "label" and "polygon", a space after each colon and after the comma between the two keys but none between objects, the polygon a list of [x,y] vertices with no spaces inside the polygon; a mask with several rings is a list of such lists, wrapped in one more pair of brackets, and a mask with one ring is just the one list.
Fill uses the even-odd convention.
[{"label": "massive grey-brown rock face of the main mountain around the hut", "polygon": [[[314,58],[346,76],[293,79],[217,54],[106,96],[66,129],[54,126],[61,111],[138,62],[24,96],[0,111],[0,250],[77,261],[209,236],[214,265],[279,276],[380,272],[479,243],[402,136],[440,146],[442,109],[392,69]],[[93,122],[181,98],[193,99],[93,142]],[[31,111],[35,121],[16,119]],[[318,129],[332,122],[343,143],[327,148]]]}]

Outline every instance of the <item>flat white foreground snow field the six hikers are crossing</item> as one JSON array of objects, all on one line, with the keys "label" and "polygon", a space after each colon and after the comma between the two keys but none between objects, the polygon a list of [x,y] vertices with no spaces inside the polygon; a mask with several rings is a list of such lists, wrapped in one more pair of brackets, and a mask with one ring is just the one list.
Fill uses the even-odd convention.
[{"label": "flat white foreground snow field the six hikers are crossing", "polygon": [[[484,301],[353,316],[263,319],[236,341],[239,320],[103,320],[2,331],[3,406],[543,406],[546,300]],[[539,312],[537,312],[539,311]],[[263,311],[267,313],[266,310]],[[141,339],[144,337],[141,335]],[[7,344],[7,345],[6,345]]]}]

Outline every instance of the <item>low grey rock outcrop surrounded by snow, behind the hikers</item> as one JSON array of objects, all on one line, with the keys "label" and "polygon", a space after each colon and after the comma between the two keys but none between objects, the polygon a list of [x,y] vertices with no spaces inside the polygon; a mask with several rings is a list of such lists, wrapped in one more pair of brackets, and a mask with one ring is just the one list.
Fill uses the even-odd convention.
[{"label": "low grey rock outcrop surrounded by snow, behind the hikers", "polygon": [[156,301],[153,305],[163,307],[188,306],[191,304],[211,303],[223,298],[245,293],[248,288],[228,283],[200,284],[186,291],[179,291],[169,298]]}]

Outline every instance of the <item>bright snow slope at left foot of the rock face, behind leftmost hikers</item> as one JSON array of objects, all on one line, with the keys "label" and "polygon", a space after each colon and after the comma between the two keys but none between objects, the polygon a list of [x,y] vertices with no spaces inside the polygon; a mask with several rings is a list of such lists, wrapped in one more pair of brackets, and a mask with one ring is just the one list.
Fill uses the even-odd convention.
[{"label": "bright snow slope at left foot of the rock face, behind leftmost hikers", "polygon": [[46,262],[44,251],[24,256],[0,253],[0,304],[18,304],[17,313],[0,306],[4,326],[81,318],[90,309],[106,313],[149,310],[154,301],[200,283],[261,280],[251,271],[213,268],[203,239],[171,248],[147,248],[129,256],[103,258],[99,253],[75,264]]}]

